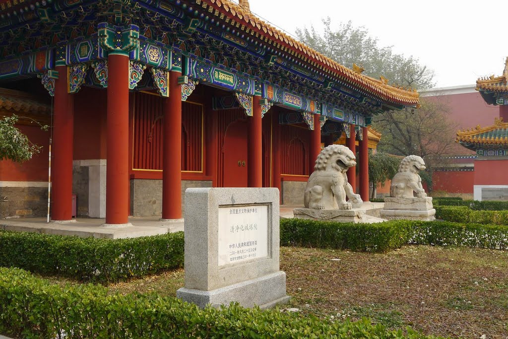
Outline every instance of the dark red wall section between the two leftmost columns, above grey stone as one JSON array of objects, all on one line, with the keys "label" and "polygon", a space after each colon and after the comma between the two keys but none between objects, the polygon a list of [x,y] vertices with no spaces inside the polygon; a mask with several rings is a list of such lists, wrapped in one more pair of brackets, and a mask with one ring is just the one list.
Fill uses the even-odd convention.
[{"label": "dark red wall section between the two leftmost columns, above grey stone", "polygon": [[106,159],[107,91],[83,86],[74,96],[74,160]]}]

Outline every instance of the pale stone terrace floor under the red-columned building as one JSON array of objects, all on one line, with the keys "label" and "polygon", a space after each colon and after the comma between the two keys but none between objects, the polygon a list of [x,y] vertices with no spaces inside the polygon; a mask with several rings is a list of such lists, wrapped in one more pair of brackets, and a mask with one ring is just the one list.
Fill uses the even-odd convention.
[{"label": "pale stone terrace floor under the red-columned building", "polygon": [[[367,214],[377,219],[378,209],[383,208],[383,203],[365,202]],[[280,217],[293,218],[293,209],[303,206],[280,206]],[[377,211],[377,213],[376,213]],[[165,234],[168,232],[183,231],[183,222],[169,223],[160,221],[159,217],[131,217],[125,227],[102,226],[104,219],[77,218],[70,223],[46,223],[46,218],[19,218],[0,220],[0,230],[24,231],[60,235],[77,235],[81,237],[96,238],[135,238],[147,235]],[[1,339],[1,338],[0,338]]]}]

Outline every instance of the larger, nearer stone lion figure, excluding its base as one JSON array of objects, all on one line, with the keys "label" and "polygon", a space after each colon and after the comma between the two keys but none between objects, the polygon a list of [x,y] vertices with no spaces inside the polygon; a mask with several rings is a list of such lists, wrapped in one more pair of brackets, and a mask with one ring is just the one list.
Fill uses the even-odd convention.
[{"label": "larger, nearer stone lion figure, excluding its base", "polygon": [[[317,156],[303,197],[304,205],[313,209],[351,209],[362,206],[359,194],[347,182],[346,171],[356,166],[353,152],[342,145],[325,147]],[[349,201],[346,201],[346,197]]]}]

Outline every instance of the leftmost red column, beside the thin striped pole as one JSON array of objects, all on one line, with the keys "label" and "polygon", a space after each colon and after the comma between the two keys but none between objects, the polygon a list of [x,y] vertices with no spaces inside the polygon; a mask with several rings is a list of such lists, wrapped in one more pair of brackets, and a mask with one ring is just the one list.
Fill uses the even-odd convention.
[{"label": "leftmost red column, beside the thin striped pole", "polygon": [[67,91],[67,66],[56,66],[55,69],[58,79],[55,79],[54,94],[51,220],[63,221],[72,219],[74,105],[73,97]]}]

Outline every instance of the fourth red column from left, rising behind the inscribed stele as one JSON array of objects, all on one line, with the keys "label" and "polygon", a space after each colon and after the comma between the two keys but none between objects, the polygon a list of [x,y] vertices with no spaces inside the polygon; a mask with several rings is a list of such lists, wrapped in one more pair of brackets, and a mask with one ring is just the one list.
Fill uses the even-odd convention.
[{"label": "fourth red column from left, rising behind the inscribed stele", "polygon": [[248,119],[248,187],[263,187],[263,134],[260,100],[260,96],[253,97],[252,116]]}]

